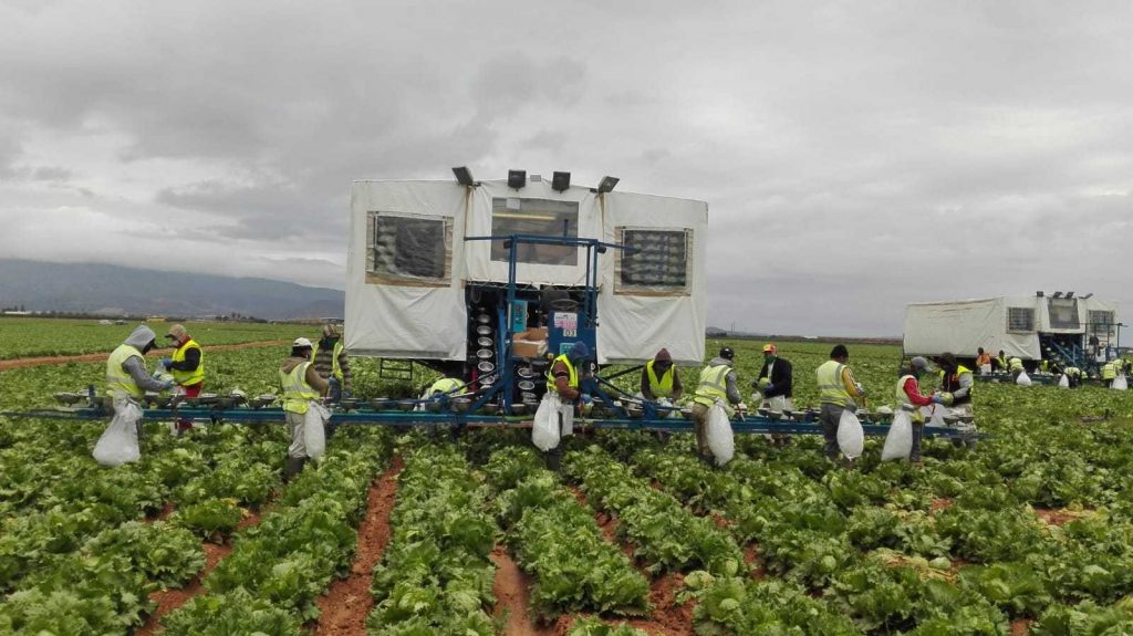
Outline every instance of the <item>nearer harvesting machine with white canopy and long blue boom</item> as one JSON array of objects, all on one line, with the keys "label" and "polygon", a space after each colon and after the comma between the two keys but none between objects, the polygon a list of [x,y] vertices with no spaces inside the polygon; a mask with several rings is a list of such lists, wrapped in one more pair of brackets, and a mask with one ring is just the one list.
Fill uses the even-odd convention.
[{"label": "nearer harvesting machine with white canopy and long blue boom", "polygon": [[[702,363],[707,205],[613,192],[613,178],[590,189],[570,186],[569,173],[478,182],[453,172],[455,183],[355,183],[346,346],[382,367],[425,364],[461,386],[416,399],[343,399],[332,423],[529,427],[551,360],[582,342],[594,352],[580,373],[594,407],[576,427],[691,431],[689,409],[634,397],[614,380],[639,373],[662,346],[678,364]],[[28,415],[105,415],[93,390],[58,397],[71,404]],[[153,396],[146,416],[282,421],[274,401]],[[885,418],[863,413],[866,433],[885,435]],[[816,420],[813,410],[758,410],[732,428],[820,435]],[[972,433],[930,426],[925,435]]]}]

